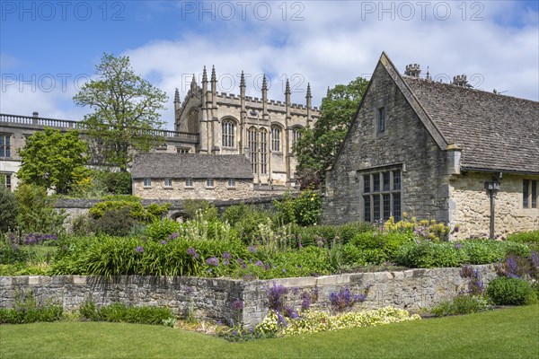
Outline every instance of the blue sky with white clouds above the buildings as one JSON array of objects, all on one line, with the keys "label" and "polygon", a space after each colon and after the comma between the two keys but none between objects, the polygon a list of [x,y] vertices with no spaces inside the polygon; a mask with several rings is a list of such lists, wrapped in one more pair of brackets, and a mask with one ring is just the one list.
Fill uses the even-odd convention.
[{"label": "blue sky with white clouds above the buildings", "polygon": [[404,72],[539,101],[539,1],[0,1],[0,113],[79,120],[73,96],[103,53],[173,98],[216,67],[217,91],[313,104],[328,87],[369,79],[382,52]]}]

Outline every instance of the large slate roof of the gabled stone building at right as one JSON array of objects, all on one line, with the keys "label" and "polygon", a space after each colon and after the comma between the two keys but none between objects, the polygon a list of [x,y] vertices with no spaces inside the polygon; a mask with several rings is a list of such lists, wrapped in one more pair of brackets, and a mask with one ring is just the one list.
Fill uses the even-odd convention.
[{"label": "large slate roof of the gabled stone building at right", "polygon": [[539,173],[539,102],[402,79],[446,143],[462,148],[463,170]]}]

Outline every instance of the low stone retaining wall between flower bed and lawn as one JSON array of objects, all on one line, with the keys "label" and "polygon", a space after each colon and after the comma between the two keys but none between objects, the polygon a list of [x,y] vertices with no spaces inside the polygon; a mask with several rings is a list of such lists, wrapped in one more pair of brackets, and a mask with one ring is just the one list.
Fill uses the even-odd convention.
[{"label": "low stone retaining wall between flower bed and lawn", "polygon": [[[496,276],[493,265],[473,267],[481,273],[484,285]],[[289,288],[287,302],[296,308],[304,293],[311,298],[311,308],[326,311],[330,308],[331,292],[347,287],[358,294],[369,285],[362,308],[393,305],[419,311],[467,289],[468,280],[460,273],[460,268],[434,268],[256,281],[167,276],[119,276],[112,281],[93,276],[4,276],[0,277],[0,308],[12,307],[17,293],[31,290],[39,302],[57,300],[66,310],[75,310],[92,299],[98,305],[125,302],[164,306],[185,315],[192,303],[199,319],[226,323],[240,320],[244,326],[253,327],[268,313],[268,290],[274,284]],[[232,309],[232,302],[238,299],[243,301],[239,315]]]}]

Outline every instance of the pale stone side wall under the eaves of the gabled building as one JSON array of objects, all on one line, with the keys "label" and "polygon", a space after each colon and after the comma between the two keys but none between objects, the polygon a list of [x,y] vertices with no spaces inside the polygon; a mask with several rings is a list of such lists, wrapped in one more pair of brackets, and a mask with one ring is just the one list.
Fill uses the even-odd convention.
[{"label": "pale stone side wall under the eaves of the gabled building", "polygon": [[[484,182],[494,173],[468,172],[450,180],[452,206],[450,222],[459,225],[455,238],[488,236],[490,232],[490,197]],[[539,229],[539,208],[524,208],[523,180],[539,180],[539,176],[505,174],[495,200],[494,230],[497,236]]]}]

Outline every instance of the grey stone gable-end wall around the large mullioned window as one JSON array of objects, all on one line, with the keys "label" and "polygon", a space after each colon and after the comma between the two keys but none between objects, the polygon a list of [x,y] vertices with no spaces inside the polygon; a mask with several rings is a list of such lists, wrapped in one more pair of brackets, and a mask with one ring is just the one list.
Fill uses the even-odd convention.
[{"label": "grey stone gable-end wall around the large mullioned window", "polygon": [[[385,112],[384,131],[377,128],[380,108]],[[328,172],[323,223],[363,220],[362,175],[393,170],[402,171],[402,212],[447,222],[448,167],[447,154],[378,63],[357,117]],[[375,215],[372,220],[380,217]]]}]

